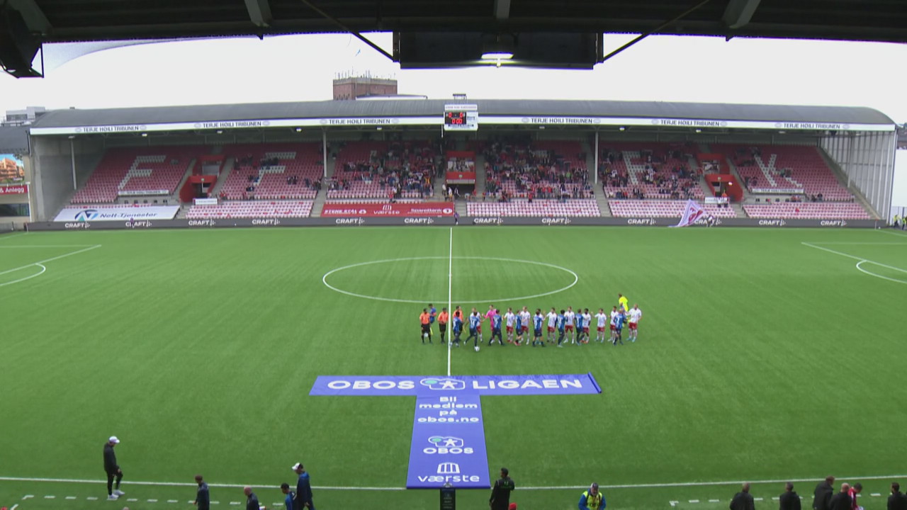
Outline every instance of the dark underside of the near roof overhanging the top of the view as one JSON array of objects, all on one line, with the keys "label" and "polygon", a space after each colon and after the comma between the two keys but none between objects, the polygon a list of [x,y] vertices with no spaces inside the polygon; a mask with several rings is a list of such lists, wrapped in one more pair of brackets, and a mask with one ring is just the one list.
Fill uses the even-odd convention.
[{"label": "dark underside of the near roof overhanging the top of the view", "polygon": [[[309,0],[10,0],[45,42],[342,32]],[[643,33],[697,0],[311,0],[360,32]],[[902,0],[712,0],[662,34],[907,42]]]}]

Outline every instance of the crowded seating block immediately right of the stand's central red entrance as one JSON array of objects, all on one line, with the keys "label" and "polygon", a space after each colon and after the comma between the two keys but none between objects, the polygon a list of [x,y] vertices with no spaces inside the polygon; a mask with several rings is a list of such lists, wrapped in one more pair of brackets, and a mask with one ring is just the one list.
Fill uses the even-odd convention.
[{"label": "crowded seating block immediately right of the stand's central red entrance", "polygon": [[485,159],[485,190],[510,198],[586,199],[592,196],[586,155],[573,140],[500,137],[472,142]]}]

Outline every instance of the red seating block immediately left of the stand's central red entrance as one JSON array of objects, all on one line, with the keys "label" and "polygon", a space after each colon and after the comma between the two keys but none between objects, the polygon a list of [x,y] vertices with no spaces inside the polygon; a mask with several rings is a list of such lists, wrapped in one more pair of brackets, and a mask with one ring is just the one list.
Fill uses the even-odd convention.
[{"label": "red seating block immediately left of the stand's central red entrance", "polygon": [[343,142],[327,198],[422,198],[432,192],[434,155],[427,142]]}]

